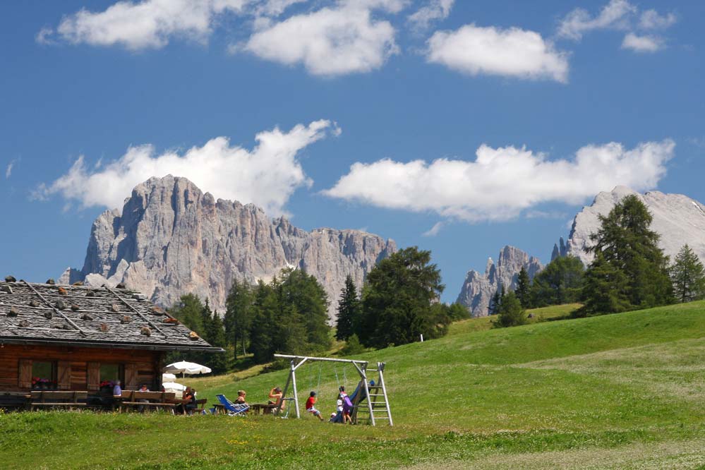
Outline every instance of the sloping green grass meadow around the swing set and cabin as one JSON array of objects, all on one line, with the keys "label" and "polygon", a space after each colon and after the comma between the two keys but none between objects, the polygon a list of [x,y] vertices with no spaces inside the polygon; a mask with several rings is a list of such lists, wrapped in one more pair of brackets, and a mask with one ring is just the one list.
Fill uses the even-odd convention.
[{"label": "sloping green grass meadow around the swing set and cabin", "polygon": [[[361,355],[387,363],[393,428],[312,416],[6,414],[0,466],[705,469],[705,302],[504,330],[482,322]],[[199,397],[243,388],[263,402],[286,377],[187,383]],[[354,372],[308,366],[300,399],[320,388],[320,409],[332,411],[339,381],[353,388]]]}]

